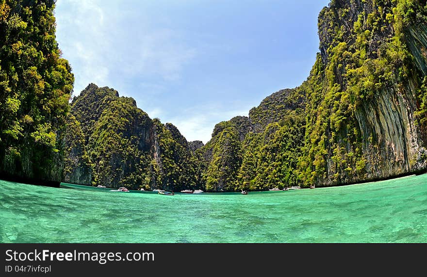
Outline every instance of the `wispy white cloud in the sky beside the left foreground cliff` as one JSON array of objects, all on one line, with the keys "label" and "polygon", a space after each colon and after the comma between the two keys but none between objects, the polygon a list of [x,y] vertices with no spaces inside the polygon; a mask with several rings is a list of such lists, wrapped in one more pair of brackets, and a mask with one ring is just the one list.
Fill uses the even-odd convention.
[{"label": "wispy white cloud in the sky beside the left foreground cliff", "polygon": [[94,82],[123,87],[131,78],[179,80],[197,50],[178,30],[150,26],[143,9],[116,1],[58,0],[59,46],[75,74],[75,94]]}]

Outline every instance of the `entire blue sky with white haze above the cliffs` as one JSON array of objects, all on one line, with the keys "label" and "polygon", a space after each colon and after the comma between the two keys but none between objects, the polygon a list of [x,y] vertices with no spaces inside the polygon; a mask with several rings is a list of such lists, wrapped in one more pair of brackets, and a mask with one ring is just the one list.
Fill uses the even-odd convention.
[{"label": "entire blue sky with white haze above the cliffs", "polygon": [[75,75],[133,97],[206,143],[216,123],[300,85],[329,0],[57,0],[57,41]]}]

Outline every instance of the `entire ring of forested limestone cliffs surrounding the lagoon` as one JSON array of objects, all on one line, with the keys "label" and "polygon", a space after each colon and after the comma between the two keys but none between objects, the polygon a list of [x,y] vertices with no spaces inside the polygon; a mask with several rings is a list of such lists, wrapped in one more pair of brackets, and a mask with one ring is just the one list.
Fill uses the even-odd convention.
[{"label": "entire ring of forested limestone cliffs surrounding the lagoon", "polygon": [[2,178],[237,191],[427,169],[426,0],[331,0],[307,80],[216,124],[206,145],[108,87],[89,84],[70,104],[53,10],[0,0]]}]

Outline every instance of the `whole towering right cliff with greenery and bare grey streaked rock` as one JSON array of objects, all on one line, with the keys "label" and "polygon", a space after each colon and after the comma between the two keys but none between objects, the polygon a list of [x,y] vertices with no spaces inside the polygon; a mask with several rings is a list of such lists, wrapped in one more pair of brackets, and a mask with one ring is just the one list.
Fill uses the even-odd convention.
[{"label": "whole towering right cliff with greenery and bare grey streaked rock", "polygon": [[415,118],[426,73],[424,15],[419,1],[333,0],[321,12],[321,53],[309,78],[306,184],[426,168],[425,127]]}]

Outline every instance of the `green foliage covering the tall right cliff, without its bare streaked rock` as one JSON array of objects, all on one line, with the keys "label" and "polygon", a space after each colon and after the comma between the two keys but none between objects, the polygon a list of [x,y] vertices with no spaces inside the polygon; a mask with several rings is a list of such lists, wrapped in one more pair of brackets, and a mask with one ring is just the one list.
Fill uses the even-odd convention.
[{"label": "green foliage covering the tall right cliff, without its bare streaked rock", "polygon": [[[371,0],[361,7],[352,18],[348,7],[332,1],[319,19],[324,51],[307,81],[307,131],[299,164],[305,186],[363,179],[362,143],[368,138],[361,136],[358,110],[388,89],[401,91],[415,77],[404,28],[425,18],[425,8],[417,0]],[[339,27],[351,20],[352,28],[343,32]],[[417,113],[420,122],[423,107]]]}]

